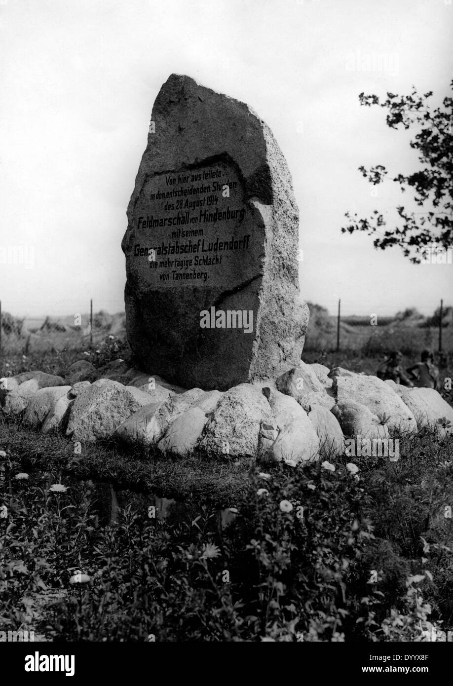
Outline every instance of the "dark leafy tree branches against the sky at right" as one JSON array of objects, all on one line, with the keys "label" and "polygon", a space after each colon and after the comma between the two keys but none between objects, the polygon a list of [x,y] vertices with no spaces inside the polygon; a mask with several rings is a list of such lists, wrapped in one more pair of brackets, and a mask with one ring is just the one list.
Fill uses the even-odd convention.
[{"label": "dark leafy tree branches against the sky at right", "polygon": [[[410,147],[417,151],[421,169],[413,174],[397,174],[393,181],[402,192],[413,192],[415,203],[423,210],[414,212],[398,206],[399,220],[394,230],[384,229],[386,220],[377,210],[364,219],[347,213],[350,224],[341,229],[342,233],[366,231],[375,236],[373,245],[381,250],[399,246],[414,263],[421,261],[423,248],[430,244],[445,249],[453,244],[453,99],[445,97],[443,107],[432,109],[430,97],[432,91],[419,95],[415,86],[410,95],[387,93],[384,102],[377,95],[360,93],[361,105],[388,110],[386,123],[390,128],[401,125],[417,131]],[[359,171],[373,185],[382,183],[388,174],[383,165],[371,169],[362,166]]]}]

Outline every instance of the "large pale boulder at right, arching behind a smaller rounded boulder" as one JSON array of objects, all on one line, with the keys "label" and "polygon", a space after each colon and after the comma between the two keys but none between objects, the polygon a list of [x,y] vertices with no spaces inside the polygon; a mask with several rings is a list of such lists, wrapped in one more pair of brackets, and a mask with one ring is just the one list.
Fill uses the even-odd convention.
[{"label": "large pale boulder at right, arching behind a smaller rounded boulder", "polygon": [[413,412],[382,379],[359,374],[353,377],[337,376],[334,377],[333,389],[339,404],[353,400],[368,407],[376,416],[388,416],[388,431],[417,431]]}]

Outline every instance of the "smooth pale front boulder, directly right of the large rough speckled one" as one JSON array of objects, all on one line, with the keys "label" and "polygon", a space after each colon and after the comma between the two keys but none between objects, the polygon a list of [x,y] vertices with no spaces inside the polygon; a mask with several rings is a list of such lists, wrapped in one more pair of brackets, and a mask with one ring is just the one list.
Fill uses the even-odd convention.
[{"label": "smooth pale front boulder, directly right of the large rough speckled one", "polygon": [[279,434],[264,460],[297,464],[314,458],[318,453],[319,440],[301,405],[278,391],[272,393],[269,403]]}]

